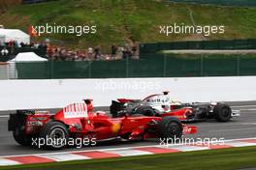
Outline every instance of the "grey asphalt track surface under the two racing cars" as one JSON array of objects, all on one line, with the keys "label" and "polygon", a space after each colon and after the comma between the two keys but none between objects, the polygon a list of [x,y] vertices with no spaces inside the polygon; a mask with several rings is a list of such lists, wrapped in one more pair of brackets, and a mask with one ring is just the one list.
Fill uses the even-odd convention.
[{"label": "grey asphalt track surface under the two racing cars", "polygon": [[[231,102],[232,108],[240,110],[241,117],[235,118],[229,123],[217,123],[214,120],[202,123],[193,123],[198,127],[198,133],[186,135],[186,137],[215,137],[228,139],[256,137],[256,101]],[[9,132],[8,114],[10,111],[0,112],[0,156],[16,156],[28,154],[42,154],[50,152],[69,152],[79,150],[97,150],[109,148],[138,147],[146,145],[157,145],[158,140],[146,140],[144,142],[106,142],[96,147],[83,147],[81,149],[67,148],[61,151],[45,151],[33,147],[22,147],[16,144],[12,133]],[[192,125],[190,123],[190,125]]]}]

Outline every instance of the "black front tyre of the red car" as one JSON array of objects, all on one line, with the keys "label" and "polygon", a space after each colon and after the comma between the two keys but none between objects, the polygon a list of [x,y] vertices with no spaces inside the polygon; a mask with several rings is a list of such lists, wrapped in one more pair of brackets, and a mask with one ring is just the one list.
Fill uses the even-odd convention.
[{"label": "black front tyre of the red car", "polygon": [[160,138],[172,138],[178,139],[182,136],[183,127],[180,121],[176,117],[167,116],[157,125],[158,136]]}]

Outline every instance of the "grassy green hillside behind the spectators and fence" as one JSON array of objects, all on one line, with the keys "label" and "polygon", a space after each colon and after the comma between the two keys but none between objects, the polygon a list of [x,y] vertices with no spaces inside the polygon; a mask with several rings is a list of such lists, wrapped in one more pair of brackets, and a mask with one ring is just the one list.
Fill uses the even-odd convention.
[{"label": "grassy green hillside behind the spectators and fence", "polygon": [[[20,5],[0,15],[7,28],[27,31],[29,25],[56,23],[59,25],[95,24],[96,35],[47,35],[52,42],[69,47],[85,48],[124,40],[139,42],[172,42],[193,40],[191,35],[166,37],[159,34],[159,25],[192,25],[190,8],[198,25],[225,25],[226,32],[208,40],[256,38],[256,8],[217,7],[209,5],[165,3],[156,0],[58,0],[48,3]],[[43,41],[46,37],[37,38]],[[197,38],[195,38],[197,39]]]}]

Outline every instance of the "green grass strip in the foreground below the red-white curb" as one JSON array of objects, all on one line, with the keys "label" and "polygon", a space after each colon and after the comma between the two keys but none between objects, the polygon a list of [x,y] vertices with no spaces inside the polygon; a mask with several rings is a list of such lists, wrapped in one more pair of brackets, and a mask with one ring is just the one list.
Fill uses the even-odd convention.
[{"label": "green grass strip in the foreground below the red-white curb", "polygon": [[19,165],[0,170],[232,170],[251,167],[256,167],[256,147]]}]

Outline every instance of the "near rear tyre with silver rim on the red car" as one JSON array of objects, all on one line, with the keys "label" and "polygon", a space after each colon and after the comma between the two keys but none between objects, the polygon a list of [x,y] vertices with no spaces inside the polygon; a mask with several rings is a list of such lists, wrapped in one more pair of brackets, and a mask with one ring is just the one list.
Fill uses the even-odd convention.
[{"label": "near rear tyre with silver rim on the red car", "polygon": [[52,121],[42,128],[40,137],[45,141],[45,148],[62,149],[67,145],[69,131],[64,124]]}]

